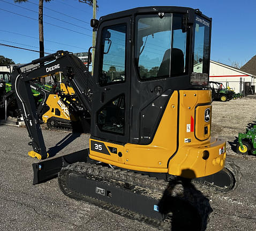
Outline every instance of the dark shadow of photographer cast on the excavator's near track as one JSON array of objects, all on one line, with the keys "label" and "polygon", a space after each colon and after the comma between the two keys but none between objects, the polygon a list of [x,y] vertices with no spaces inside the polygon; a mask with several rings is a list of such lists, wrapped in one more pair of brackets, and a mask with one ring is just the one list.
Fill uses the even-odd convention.
[{"label": "dark shadow of photographer cast on the excavator's near track", "polygon": [[[191,170],[183,170],[194,174]],[[182,173],[183,175],[183,173]],[[165,222],[172,231],[206,230],[209,214],[213,212],[209,199],[197,190],[191,179],[176,178],[169,182],[159,203],[159,212],[166,214]]]}]

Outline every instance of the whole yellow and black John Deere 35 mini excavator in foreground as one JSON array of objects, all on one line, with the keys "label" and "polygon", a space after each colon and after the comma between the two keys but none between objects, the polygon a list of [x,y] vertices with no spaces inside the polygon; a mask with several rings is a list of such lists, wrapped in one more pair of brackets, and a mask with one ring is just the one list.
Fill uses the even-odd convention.
[{"label": "whole yellow and black John Deere 35 mini excavator in foreground", "polygon": [[[185,179],[221,191],[236,183],[224,168],[225,141],[210,135],[212,19],[198,9],[152,6],[92,19],[91,26],[97,31],[89,49],[95,49],[93,77],[67,51],[33,60],[44,62],[33,70],[14,67],[12,84],[32,138],[29,155],[49,157],[29,81],[63,72],[83,116],[91,117],[89,149],[33,164],[34,184],[58,174],[69,197],[169,229],[168,187],[179,181],[186,190],[177,195],[200,215],[197,230],[203,230],[207,203],[195,189],[187,196],[193,187]],[[181,219],[194,222],[194,214]]]}]

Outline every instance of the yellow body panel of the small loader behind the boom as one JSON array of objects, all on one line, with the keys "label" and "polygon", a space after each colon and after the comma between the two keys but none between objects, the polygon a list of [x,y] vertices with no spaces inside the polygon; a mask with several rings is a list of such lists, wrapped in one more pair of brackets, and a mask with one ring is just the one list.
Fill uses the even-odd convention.
[{"label": "yellow body panel of the small loader behind the boom", "polygon": [[[67,109],[66,105],[61,101],[61,99],[58,97],[58,95],[50,94],[46,104],[50,107],[50,109],[43,114],[42,120],[43,122],[47,122],[47,120],[51,117],[57,117],[61,119],[66,120],[74,120],[74,118],[70,118],[71,115],[69,113],[69,110]],[[60,114],[56,114],[57,111],[60,112]]]}]

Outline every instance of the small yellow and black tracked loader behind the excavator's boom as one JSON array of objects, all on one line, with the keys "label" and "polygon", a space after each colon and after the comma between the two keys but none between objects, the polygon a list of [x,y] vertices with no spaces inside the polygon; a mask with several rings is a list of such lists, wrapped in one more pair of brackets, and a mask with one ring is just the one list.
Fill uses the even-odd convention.
[{"label": "small yellow and black tracked loader behind the excavator's boom", "polygon": [[[47,76],[40,76],[40,78]],[[53,79],[54,84],[51,87],[44,87],[36,80],[30,81],[32,91],[36,93],[34,96],[36,95],[37,116],[39,116],[40,122],[46,124],[50,129],[88,131],[88,123],[87,127],[81,126],[84,123],[81,120],[84,118],[80,117],[81,108],[76,99],[72,97],[74,95],[73,88],[65,86],[64,83],[57,86],[56,79]]]}]

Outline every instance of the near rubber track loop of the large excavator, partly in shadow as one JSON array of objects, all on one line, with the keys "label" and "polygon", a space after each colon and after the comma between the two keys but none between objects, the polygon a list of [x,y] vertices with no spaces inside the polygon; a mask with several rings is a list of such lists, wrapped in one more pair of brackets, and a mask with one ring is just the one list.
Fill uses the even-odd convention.
[{"label": "near rubber track loop of the large excavator, partly in shadow", "polygon": [[[85,201],[95,204],[99,207],[102,207],[103,209],[107,209],[111,212],[117,213],[129,219],[142,221],[151,226],[160,227],[163,230],[171,229],[170,217],[167,217],[167,219],[165,219],[164,221],[148,218],[145,215],[132,212],[130,210],[124,209],[123,207],[112,205],[107,202],[100,201],[99,199],[92,198],[73,191],[68,187],[67,184],[70,174],[78,174],[89,179],[102,179],[102,181],[107,181],[111,184],[113,184],[113,180],[115,180],[116,182],[126,182],[133,186],[144,188],[146,196],[150,196],[156,199],[160,199],[163,195],[163,192],[165,191],[166,193],[168,191],[168,182],[165,182],[164,180],[150,178],[147,175],[133,173],[132,171],[103,167],[101,165],[89,163],[74,163],[72,165],[68,165],[66,167],[63,167],[61,172],[59,172],[58,174],[59,187],[61,188],[62,192],[68,197],[77,199],[79,201]],[[193,187],[186,188],[185,190],[181,184],[176,184],[176,186],[171,189],[171,196],[179,197],[186,203],[192,205],[197,210],[201,219],[201,229],[199,230],[205,230],[208,215],[210,212],[212,212],[208,199],[202,196],[200,191]]]}]

